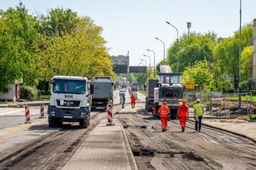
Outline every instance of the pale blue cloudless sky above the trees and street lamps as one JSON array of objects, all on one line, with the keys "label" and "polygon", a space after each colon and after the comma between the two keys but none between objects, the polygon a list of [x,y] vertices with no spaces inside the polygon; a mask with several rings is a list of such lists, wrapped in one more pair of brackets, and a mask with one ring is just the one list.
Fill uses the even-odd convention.
[{"label": "pale blue cloudless sky above the trees and street lamps", "polygon": [[[18,0],[0,0],[1,9],[18,4]],[[30,14],[46,14],[54,7],[70,8],[79,15],[90,16],[103,27],[110,55],[130,51],[130,64],[138,65],[146,49],[154,49],[156,60],[163,57],[163,47],[155,37],[166,43],[166,50],[176,40],[176,26],[186,33],[186,22],[192,31],[214,31],[218,37],[229,37],[239,26],[239,0],[23,0]],[[242,23],[256,18],[256,0],[242,1]],[[153,60],[153,57],[151,58]],[[153,63],[153,61],[151,61]]]}]

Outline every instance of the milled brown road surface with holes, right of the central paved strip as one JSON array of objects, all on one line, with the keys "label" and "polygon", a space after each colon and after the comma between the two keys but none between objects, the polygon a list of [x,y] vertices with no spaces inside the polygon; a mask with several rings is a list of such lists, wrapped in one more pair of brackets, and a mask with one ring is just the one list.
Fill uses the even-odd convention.
[{"label": "milled brown road surface with holes, right of the central paved strip", "polygon": [[120,113],[117,118],[126,128],[139,169],[256,169],[251,140],[204,126],[197,133],[190,121],[186,132],[178,121],[168,122],[167,132],[162,132],[160,120],[144,113]]}]

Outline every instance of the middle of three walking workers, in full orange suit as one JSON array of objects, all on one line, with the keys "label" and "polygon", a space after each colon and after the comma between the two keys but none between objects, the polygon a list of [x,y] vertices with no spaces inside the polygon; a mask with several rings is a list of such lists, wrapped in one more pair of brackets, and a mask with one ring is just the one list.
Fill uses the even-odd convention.
[{"label": "middle of three walking workers, in full orange suit", "polygon": [[189,118],[189,108],[187,107],[185,100],[182,100],[182,105],[178,106],[178,118],[180,125],[182,126],[182,132],[184,132],[186,128],[186,120]]}]

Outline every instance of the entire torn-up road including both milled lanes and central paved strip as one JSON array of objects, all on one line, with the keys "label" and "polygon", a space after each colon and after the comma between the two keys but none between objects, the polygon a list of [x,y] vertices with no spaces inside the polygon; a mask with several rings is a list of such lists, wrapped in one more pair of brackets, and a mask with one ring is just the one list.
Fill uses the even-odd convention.
[{"label": "entire torn-up road including both milled lanes and central paved strip", "polygon": [[138,93],[135,109],[129,102],[121,109],[115,92],[112,126],[107,126],[106,112],[101,110],[91,113],[88,128],[76,123],[48,128],[46,119],[38,120],[39,125],[32,122],[26,125],[26,136],[43,135],[26,141],[18,141],[18,136],[1,140],[0,169],[256,168],[254,140],[205,125],[196,133],[192,119],[186,132],[181,132],[177,120],[169,121],[162,132],[158,118],[144,108],[145,96]]}]

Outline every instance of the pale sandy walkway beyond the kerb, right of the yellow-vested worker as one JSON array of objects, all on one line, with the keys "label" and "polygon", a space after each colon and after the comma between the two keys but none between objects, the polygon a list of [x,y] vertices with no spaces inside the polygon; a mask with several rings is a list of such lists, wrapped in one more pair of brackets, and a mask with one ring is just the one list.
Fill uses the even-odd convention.
[{"label": "pale sandy walkway beyond the kerb, right of the yellow-vested worker", "polygon": [[242,120],[202,120],[202,124],[222,128],[224,130],[248,136],[256,140],[256,122],[247,122]]}]

